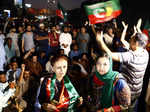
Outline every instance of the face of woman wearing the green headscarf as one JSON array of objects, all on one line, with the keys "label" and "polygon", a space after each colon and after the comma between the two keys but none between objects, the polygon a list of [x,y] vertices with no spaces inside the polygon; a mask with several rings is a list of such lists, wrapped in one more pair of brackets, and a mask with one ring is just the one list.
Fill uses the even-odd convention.
[{"label": "face of woman wearing the green headscarf", "polygon": [[110,62],[109,59],[106,57],[101,57],[97,60],[96,63],[96,70],[99,72],[101,75],[105,75],[110,68]]}]

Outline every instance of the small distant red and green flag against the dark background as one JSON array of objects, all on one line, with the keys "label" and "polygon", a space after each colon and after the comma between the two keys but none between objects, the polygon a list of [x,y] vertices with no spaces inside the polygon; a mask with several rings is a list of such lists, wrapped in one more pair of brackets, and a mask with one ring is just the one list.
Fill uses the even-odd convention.
[{"label": "small distant red and green flag against the dark background", "polygon": [[56,10],[56,15],[64,19],[64,21],[67,21],[67,12],[65,11],[65,9],[62,7],[62,5],[59,2],[57,4],[57,8],[58,9]]}]

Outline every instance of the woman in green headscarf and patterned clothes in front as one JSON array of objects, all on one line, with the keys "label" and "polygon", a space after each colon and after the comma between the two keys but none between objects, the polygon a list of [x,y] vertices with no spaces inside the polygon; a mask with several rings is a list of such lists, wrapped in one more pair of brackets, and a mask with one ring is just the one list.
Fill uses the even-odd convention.
[{"label": "woman in green headscarf and patterned clothes in front", "polygon": [[120,112],[128,108],[130,89],[123,79],[118,79],[118,75],[118,72],[112,70],[112,59],[101,52],[95,72],[89,80],[91,112]]}]

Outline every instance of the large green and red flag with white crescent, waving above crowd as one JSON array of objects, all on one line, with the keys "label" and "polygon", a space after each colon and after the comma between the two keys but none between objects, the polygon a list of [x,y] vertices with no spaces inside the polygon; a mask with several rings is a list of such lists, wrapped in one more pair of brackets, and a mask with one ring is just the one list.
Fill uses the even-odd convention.
[{"label": "large green and red flag with white crescent, waving above crowd", "polygon": [[118,0],[109,0],[85,6],[86,13],[91,24],[103,23],[116,18],[121,14]]}]

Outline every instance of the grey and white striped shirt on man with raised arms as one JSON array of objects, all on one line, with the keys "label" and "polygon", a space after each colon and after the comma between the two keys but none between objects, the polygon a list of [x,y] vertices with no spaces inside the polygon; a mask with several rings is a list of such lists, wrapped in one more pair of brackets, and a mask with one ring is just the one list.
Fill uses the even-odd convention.
[{"label": "grey and white striped shirt on man with raised arms", "polygon": [[127,81],[132,95],[140,95],[142,91],[148,60],[149,54],[145,49],[120,53],[120,62],[123,63],[122,75]]}]

